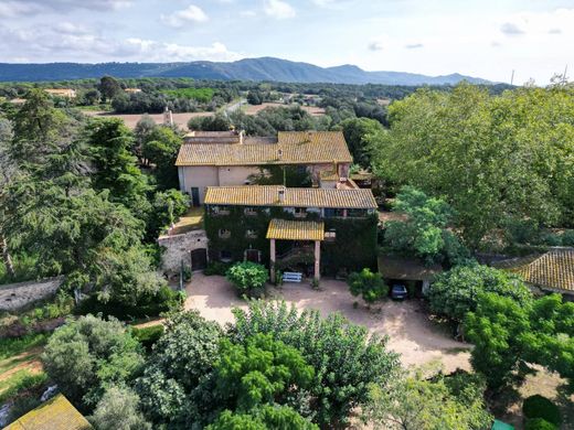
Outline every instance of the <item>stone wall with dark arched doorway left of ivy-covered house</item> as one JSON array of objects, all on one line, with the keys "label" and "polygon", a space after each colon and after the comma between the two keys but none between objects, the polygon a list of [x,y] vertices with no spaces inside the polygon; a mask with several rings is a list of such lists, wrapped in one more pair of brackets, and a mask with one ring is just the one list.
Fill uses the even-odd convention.
[{"label": "stone wall with dark arched doorway left of ivy-covered house", "polygon": [[164,248],[161,256],[161,266],[167,273],[177,273],[181,261],[184,267],[191,267],[191,251],[193,249],[208,249],[208,236],[205,230],[193,230],[182,235],[160,236],[158,245]]}]

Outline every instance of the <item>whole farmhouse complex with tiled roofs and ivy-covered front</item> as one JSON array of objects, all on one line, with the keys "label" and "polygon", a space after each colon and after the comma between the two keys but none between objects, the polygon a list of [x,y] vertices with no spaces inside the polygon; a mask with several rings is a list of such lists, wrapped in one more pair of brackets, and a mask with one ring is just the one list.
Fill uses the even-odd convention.
[{"label": "whole farmhouse complex with tiled roofs and ivy-covered front", "polygon": [[[319,279],[375,269],[378,205],[370,189],[349,178],[351,162],[341,132],[279,132],[276,139],[236,131],[188,135],[177,161],[180,187],[194,206],[204,206],[208,243],[185,250],[192,269],[208,260],[248,260],[267,265],[272,279],[285,270]],[[285,186],[287,171],[307,179],[307,186]],[[166,247],[169,241],[160,238]],[[193,248],[202,241],[179,240]]]}]

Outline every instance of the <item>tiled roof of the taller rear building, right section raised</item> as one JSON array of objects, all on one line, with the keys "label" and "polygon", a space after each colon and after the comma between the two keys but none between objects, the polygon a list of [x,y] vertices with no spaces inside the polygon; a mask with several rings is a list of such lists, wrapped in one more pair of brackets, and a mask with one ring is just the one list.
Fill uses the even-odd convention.
[{"label": "tiled roof of the taller rear building, right section raised", "polygon": [[181,146],[176,165],[352,162],[343,133],[340,131],[279,131],[276,143],[258,140],[248,143],[247,138],[240,143],[241,139],[233,136],[210,138],[205,133],[191,137],[188,141]]}]

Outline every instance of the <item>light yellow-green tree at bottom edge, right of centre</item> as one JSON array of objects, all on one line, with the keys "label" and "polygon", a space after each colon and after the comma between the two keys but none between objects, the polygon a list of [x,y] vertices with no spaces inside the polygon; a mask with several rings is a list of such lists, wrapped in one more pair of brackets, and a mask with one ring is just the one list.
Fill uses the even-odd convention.
[{"label": "light yellow-green tree at bottom edge, right of centre", "polygon": [[400,376],[390,390],[373,386],[365,418],[375,428],[389,430],[490,429],[492,416],[486,410],[483,386],[465,378],[470,384],[455,391],[448,379]]}]

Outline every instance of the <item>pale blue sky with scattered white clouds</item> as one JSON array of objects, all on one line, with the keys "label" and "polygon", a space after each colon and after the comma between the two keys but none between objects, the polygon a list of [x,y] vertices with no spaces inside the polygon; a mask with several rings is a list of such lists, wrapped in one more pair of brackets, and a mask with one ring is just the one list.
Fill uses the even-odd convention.
[{"label": "pale blue sky with scattered white clouds", "polygon": [[545,84],[574,75],[574,0],[0,0],[0,62],[255,56]]}]

